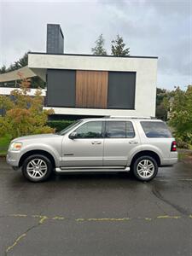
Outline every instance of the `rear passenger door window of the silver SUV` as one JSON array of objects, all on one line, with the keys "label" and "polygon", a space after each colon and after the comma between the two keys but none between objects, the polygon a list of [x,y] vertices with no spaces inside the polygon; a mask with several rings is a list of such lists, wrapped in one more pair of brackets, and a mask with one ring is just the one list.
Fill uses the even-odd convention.
[{"label": "rear passenger door window of the silver SUV", "polygon": [[106,122],[106,137],[125,138],[135,137],[135,131],[131,122],[108,121]]}]

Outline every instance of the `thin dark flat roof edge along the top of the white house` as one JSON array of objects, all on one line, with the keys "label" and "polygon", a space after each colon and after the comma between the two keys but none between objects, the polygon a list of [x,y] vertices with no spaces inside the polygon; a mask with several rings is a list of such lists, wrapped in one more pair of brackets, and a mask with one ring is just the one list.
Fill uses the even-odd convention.
[{"label": "thin dark flat roof edge along the top of the white house", "polygon": [[114,56],[114,55],[85,55],[85,54],[55,54],[55,53],[46,53],[46,52],[29,52],[31,55],[69,55],[69,56],[88,56],[88,57],[111,57],[111,58],[139,58],[139,59],[158,59],[157,56]]}]

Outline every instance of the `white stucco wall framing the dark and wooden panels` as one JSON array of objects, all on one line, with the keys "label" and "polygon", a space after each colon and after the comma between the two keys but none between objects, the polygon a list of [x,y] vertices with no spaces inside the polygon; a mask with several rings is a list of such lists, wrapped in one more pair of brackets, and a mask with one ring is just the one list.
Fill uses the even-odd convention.
[{"label": "white stucco wall framing the dark and wooden panels", "polygon": [[89,55],[29,54],[28,67],[137,72],[135,110],[96,108],[54,108],[55,113],[85,115],[154,116],[156,97],[157,58],[102,57]]}]

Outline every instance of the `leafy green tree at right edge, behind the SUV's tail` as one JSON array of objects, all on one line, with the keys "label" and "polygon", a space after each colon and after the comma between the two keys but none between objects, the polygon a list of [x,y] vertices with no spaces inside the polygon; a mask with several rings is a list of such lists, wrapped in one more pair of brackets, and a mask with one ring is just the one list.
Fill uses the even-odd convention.
[{"label": "leafy green tree at right edge, behind the SUV's tail", "polygon": [[192,85],[186,91],[177,87],[169,107],[169,125],[174,128],[176,137],[192,144]]}]

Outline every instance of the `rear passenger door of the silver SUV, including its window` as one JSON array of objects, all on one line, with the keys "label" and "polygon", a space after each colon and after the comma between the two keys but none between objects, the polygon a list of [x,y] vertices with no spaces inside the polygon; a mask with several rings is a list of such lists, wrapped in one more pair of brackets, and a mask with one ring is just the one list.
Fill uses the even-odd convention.
[{"label": "rear passenger door of the silver SUV, including its window", "polygon": [[126,166],[131,150],[140,139],[131,121],[106,121],[104,137],[104,166]]}]

